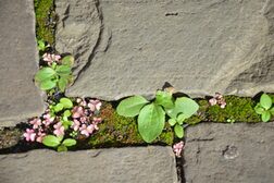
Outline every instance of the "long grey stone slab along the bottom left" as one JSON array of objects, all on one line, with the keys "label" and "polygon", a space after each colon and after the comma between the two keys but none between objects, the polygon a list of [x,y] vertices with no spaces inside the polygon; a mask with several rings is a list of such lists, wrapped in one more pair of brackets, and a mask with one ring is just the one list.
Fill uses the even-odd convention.
[{"label": "long grey stone slab along the bottom left", "polygon": [[1,183],[175,183],[171,147],[0,155]]}]

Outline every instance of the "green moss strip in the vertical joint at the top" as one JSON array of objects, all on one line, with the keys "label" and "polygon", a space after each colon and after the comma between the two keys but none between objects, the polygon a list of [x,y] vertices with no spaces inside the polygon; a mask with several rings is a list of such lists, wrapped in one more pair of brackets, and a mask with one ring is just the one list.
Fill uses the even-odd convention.
[{"label": "green moss strip in the vertical joint at the top", "polygon": [[34,0],[36,37],[50,45],[54,44],[55,19],[54,0]]}]

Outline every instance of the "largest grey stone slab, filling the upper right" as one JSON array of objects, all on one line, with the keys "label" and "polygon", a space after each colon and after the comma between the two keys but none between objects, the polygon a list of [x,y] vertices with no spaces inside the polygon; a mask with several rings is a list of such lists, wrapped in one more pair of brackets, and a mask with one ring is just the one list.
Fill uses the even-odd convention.
[{"label": "largest grey stone slab, filling the upper right", "polygon": [[79,63],[70,96],[151,96],[165,82],[190,96],[274,91],[273,0],[57,0],[57,48]]}]

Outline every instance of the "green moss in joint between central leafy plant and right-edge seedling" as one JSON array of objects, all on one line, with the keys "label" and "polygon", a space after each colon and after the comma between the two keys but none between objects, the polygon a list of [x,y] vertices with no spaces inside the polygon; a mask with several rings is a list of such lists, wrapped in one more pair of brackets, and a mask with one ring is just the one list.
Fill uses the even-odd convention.
[{"label": "green moss in joint between central leafy plant and right-edge seedling", "polygon": [[256,113],[254,106],[257,102],[251,98],[225,96],[226,107],[222,109],[220,106],[209,107],[205,111],[208,121],[227,122],[260,122],[260,115]]}]

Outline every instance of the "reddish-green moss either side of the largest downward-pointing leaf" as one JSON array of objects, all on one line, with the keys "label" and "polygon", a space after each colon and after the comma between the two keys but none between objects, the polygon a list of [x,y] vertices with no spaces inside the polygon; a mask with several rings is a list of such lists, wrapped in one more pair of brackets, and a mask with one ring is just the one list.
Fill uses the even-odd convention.
[{"label": "reddish-green moss either side of the largest downward-pointing leaf", "polygon": [[[103,122],[100,130],[89,139],[92,147],[119,147],[146,144],[138,133],[136,118],[124,118],[116,113],[110,103],[101,110]],[[153,144],[172,145],[173,132],[167,125]]]}]

